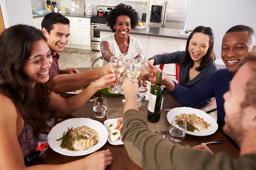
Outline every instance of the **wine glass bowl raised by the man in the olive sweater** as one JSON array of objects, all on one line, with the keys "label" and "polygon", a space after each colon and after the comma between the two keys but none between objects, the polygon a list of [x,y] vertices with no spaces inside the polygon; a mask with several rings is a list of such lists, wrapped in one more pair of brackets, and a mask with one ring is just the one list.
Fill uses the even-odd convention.
[{"label": "wine glass bowl raised by the man in the olive sweater", "polygon": [[132,82],[140,75],[140,67],[141,64],[138,61],[130,60],[125,64],[126,75]]}]

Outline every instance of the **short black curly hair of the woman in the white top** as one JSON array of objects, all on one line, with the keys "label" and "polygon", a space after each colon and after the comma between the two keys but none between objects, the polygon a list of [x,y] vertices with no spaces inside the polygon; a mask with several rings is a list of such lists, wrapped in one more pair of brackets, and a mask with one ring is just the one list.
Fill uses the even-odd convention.
[{"label": "short black curly hair of the woman in the white top", "polygon": [[114,29],[113,26],[116,24],[116,18],[120,15],[130,17],[132,29],[137,26],[139,18],[138,12],[136,12],[135,9],[132,9],[130,5],[125,5],[121,3],[116,5],[115,8],[112,9],[106,17],[106,21],[108,23],[107,26],[109,26],[113,32],[116,32],[116,29]]}]

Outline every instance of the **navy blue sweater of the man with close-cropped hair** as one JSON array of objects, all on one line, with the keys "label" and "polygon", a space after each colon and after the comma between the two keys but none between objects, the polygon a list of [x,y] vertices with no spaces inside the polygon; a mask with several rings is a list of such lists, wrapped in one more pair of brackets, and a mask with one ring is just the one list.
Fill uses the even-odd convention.
[{"label": "navy blue sweater of the man with close-cropped hair", "polygon": [[[170,92],[172,97],[187,107],[195,107],[203,103],[206,99],[215,97],[217,104],[217,123],[219,128],[225,123],[223,94],[229,90],[229,82],[233,78],[227,69],[220,69],[212,73],[210,78],[203,84],[194,88],[186,88],[175,83],[175,89]],[[181,95],[182,94],[182,95]]]}]

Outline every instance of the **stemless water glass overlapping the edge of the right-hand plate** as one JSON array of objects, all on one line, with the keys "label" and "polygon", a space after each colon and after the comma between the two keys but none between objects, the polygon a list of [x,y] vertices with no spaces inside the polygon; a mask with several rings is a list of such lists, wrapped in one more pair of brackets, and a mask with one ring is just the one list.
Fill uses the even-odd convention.
[{"label": "stemless water glass overlapping the edge of the right-hand plate", "polygon": [[187,122],[180,118],[174,118],[170,126],[172,142],[180,142],[186,136]]}]

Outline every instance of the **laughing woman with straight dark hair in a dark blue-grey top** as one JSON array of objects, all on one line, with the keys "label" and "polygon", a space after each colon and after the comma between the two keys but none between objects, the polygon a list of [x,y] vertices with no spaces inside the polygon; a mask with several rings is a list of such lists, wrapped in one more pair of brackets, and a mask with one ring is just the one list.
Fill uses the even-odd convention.
[{"label": "laughing woman with straight dark hair in a dark blue-grey top", "polygon": [[[204,83],[219,67],[214,63],[214,33],[210,27],[197,26],[189,35],[186,50],[155,55],[149,59],[153,65],[179,63],[179,81],[184,87],[195,87]],[[206,107],[211,99],[196,108]]]}]

